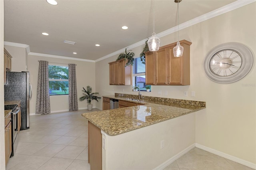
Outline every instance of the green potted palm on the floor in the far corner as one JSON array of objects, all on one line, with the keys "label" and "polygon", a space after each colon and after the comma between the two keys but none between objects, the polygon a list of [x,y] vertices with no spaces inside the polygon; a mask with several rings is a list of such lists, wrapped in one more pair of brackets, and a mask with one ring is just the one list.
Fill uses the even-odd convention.
[{"label": "green potted palm on the floor in the far corner", "polygon": [[98,101],[98,99],[101,99],[101,97],[96,96],[99,93],[92,93],[92,87],[90,87],[89,85],[86,87],[86,89],[84,89],[84,87],[83,87],[82,91],[84,93],[83,93],[83,96],[79,98],[79,100],[84,101],[86,99],[87,100],[87,109],[88,109],[88,111],[91,111],[92,110],[91,102],[93,100]]}]

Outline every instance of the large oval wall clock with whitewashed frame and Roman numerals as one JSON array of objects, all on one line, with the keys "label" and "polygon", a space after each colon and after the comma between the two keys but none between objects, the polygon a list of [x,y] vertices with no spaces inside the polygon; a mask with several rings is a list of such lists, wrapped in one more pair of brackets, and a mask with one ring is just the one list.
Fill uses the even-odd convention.
[{"label": "large oval wall clock with whitewashed frame and Roman numerals", "polygon": [[211,49],[204,59],[204,71],[217,83],[233,83],[251,70],[254,55],[241,43],[229,42]]}]

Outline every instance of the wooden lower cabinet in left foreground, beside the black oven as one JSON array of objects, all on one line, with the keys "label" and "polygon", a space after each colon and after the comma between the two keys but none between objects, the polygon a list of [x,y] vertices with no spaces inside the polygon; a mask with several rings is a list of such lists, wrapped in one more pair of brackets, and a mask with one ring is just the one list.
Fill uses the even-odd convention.
[{"label": "wooden lower cabinet in left foreground, beside the black oven", "polygon": [[4,139],[5,139],[5,164],[8,163],[12,154],[12,122],[11,114],[5,118]]}]

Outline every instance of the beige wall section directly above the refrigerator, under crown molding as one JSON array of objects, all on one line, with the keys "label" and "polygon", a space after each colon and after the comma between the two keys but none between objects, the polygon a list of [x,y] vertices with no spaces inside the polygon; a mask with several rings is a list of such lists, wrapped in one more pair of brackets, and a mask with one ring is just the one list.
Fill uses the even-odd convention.
[{"label": "beige wall section directly above the refrigerator, under crown molding", "polygon": [[26,71],[28,53],[24,47],[4,45],[4,48],[12,55],[12,71]]}]

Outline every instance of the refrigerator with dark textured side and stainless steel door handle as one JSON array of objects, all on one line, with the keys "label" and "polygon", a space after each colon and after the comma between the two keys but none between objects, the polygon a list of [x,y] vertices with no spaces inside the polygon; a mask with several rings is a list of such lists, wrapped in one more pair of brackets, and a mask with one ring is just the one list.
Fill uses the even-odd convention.
[{"label": "refrigerator with dark textured side and stainless steel door handle", "polygon": [[4,101],[21,101],[21,127],[29,128],[29,101],[32,97],[32,87],[29,83],[29,72],[6,72],[4,85]]}]

